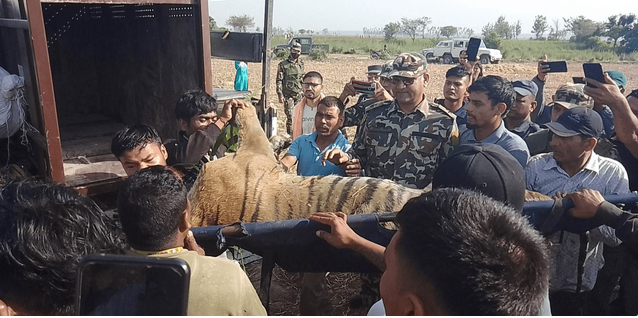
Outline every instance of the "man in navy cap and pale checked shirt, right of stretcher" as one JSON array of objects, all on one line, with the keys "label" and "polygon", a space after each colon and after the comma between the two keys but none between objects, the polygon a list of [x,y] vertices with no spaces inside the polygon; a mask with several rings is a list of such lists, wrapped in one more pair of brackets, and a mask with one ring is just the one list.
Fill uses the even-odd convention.
[{"label": "man in navy cap and pale checked shirt, right of stretcher", "polygon": [[[553,152],[539,154],[527,163],[526,187],[545,195],[597,190],[603,195],[629,192],[625,168],[594,151],[603,122],[594,110],[574,107],[547,124]],[[554,315],[583,313],[589,291],[604,265],[603,243],[620,244],[614,230],[597,227],[587,233],[558,232],[552,242],[550,303]]]}]

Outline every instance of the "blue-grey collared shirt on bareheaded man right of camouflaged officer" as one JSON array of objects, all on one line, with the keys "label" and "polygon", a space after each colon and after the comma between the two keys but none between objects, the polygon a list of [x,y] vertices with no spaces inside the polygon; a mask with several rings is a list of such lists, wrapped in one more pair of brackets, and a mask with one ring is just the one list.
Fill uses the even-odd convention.
[{"label": "blue-grey collared shirt on bareheaded man right of camouflaged officer", "polygon": [[499,145],[516,158],[523,168],[527,165],[527,159],[529,159],[527,144],[521,137],[505,129],[505,123],[502,120],[498,128],[481,141],[476,140],[474,129],[467,129],[461,134],[461,145],[478,143]]}]

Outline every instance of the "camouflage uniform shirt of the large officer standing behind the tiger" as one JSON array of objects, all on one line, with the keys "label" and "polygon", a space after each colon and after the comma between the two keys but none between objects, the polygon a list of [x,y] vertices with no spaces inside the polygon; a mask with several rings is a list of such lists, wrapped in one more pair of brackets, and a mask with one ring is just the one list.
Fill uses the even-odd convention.
[{"label": "camouflage uniform shirt of the large officer standing behind the tiger", "polygon": [[423,102],[409,114],[396,101],[366,113],[351,156],[368,177],[424,189],[434,170],[458,144],[455,116],[443,106]]}]

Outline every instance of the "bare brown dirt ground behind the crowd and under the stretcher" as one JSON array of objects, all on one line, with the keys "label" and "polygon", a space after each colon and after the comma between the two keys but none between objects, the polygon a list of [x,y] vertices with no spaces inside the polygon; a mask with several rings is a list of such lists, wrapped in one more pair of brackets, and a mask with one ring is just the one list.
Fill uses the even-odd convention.
[{"label": "bare brown dirt ground behind the crowd and under the stretcher", "polygon": [[[351,77],[358,79],[365,78],[365,72],[368,65],[381,64],[384,61],[371,60],[367,56],[331,54],[327,61],[311,61],[306,57],[302,57],[305,63],[305,71],[318,71],[324,78],[324,93],[326,95],[339,96],[345,83]],[[279,60],[273,60],[270,66],[271,81],[269,83],[269,105],[277,108],[279,133],[285,131],[285,114],[283,105],[277,101],[275,90],[275,76],[277,73],[277,64]],[[213,59],[213,84],[214,87],[222,87],[232,89],[235,68],[233,61]],[[261,89],[261,64],[249,63],[249,90],[255,92]],[[442,96],[443,82],[445,80],[445,72],[452,65],[431,64],[428,65],[428,73],[430,74],[430,82],[427,85],[427,99],[432,101],[434,98]],[[508,63],[502,62],[497,65],[485,65],[485,75],[499,75],[509,80],[532,79],[536,75],[537,64],[533,62],[527,63]],[[582,66],[580,63],[568,63],[568,73],[555,73],[548,77],[545,86],[545,96],[551,100],[551,96],[556,89],[564,84],[571,83],[573,76],[583,76]],[[620,70],[628,80],[627,93],[632,89],[638,88],[638,65],[637,64],[604,64],[604,70]],[[354,128],[348,131],[348,135],[354,135]],[[251,278],[256,289],[259,288],[259,277],[261,262],[254,262],[246,266],[249,277]],[[360,279],[358,274],[353,273],[330,273],[327,276],[329,297],[332,312],[326,313],[331,315],[365,315],[366,309],[350,309],[348,299],[350,296],[358,293],[360,290]],[[299,275],[288,273],[279,267],[276,267],[273,273],[273,281],[270,294],[270,315],[298,315],[299,314]]]}]

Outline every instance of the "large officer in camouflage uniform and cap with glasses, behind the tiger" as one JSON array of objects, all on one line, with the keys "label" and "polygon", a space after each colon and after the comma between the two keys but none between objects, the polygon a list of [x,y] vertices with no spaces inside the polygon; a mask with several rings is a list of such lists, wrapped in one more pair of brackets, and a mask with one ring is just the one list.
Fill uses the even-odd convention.
[{"label": "large officer in camouflage uniform and cap with glasses, behind the tiger", "polygon": [[458,144],[455,116],[443,106],[428,103],[429,75],[423,55],[399,55],[390,77],[395,99],[367,111],[350,156],[334,151],[324,158],[335,164],[348,162],[344,168],[349,175],[362,168],[365,176],[424,189],[438,164]]}]

